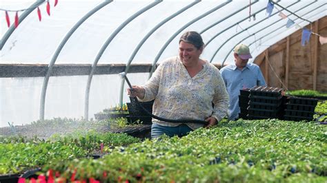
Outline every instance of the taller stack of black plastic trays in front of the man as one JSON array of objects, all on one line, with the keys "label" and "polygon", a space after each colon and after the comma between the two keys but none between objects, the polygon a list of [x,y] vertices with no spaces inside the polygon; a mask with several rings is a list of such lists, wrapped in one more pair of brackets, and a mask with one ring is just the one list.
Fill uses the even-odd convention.
[{"label": "taller stack of black plastic trays in front of the man", "polygon": [[284,116],[283,89],[277,87],[256,86],[250,89],[248,118],[282,119]]}]

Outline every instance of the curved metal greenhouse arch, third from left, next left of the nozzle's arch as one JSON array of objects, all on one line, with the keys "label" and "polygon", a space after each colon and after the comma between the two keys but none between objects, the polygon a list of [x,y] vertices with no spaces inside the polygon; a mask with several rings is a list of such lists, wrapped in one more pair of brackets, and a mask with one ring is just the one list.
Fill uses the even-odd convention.
[{"label": "curved metal greenhouse arch, third from left, next left of the nozzle's arch", "polygon": [[85,104],[84,104],[84,118],[88,120],[88,104],[89,104],[89,96],[90,96],[90,85],[92,81],[92,76],[95,73],[95,68],[97,68],[97,63],[99,62],[103,52],[106,50],[108,45],[111,43],[112,39],[115,38],[115,36],[128,24],[130,21],[138,17],[143,12],[146,12],[150,8],[156,6],[158,3],[161,3],[163,0],[155,0],[153,3],[150,3],[148,6],[142,8],[141,10],[137,11],[135,14],[133,14],[131,17],[126,19],[119,27],[110,35],[110,37],[107,39],[106,43],[104,43],[97,54],[97,57],[95,58],[95,61],[92,64],[92,69],[90,74],[88,75],[88,83],[86,84],[86,92],[85,92]]}]

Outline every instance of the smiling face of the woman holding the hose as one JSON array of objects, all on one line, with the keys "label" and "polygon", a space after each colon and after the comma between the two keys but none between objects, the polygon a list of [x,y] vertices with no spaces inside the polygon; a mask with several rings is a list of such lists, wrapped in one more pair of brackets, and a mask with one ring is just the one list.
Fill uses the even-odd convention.
[{"label": "smiling face of the woman holding the hose", "polygon": [[179,58],[185,66],[195,65],[199,61],[202,50],[202,48],[198,50],[197,47],[191,43],[181,41],[181,43],[179,43]]}]

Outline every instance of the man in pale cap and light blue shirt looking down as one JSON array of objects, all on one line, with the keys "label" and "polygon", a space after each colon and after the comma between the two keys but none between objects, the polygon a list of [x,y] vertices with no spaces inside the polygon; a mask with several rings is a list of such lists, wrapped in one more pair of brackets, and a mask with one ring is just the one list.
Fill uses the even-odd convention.
[{"label": "man in pale cap and light blue shirt looking down", "polygon": [[235,64],[227,65],[220,70],[230,97],[228,119],[235,120],[239,116],[239,90],[256,85],[266,86],[264,76],[258,65],[248,63],[252,58],[247,45],[240,44],[234,48]]}]

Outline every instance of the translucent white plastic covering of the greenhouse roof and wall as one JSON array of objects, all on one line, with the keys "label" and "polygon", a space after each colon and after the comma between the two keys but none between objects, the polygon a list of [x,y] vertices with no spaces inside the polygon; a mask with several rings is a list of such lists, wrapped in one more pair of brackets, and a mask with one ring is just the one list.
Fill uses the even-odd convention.
[{"label": "translucent white plastic covering of the greenhouse roof and wall", "polygon": [[[28,8],[34,2],[30,0],[1,0],[0,8],[1,10],[21,10]],[[90,10],[102,2],[99,0],[59,0],[57,6],[54,7],[54,0],[50,0],[50,16],[46,13],[46,3],[42,3],[39,6],[42,14],[41,22],[37,17],[37,10],[34,10],[26,19],[19,23],[18,28],[10,34],[6,43],[1,39],[1,44],[4,43],[4,45],[0,51],[0,64],[50,63],[55,50],[57,50],[57,47],[70,29]],[[59,53],[55,64],[92,64],[103,44],[117,30],[119,25],[132,16],[132,14],[135,14],[135,12],[152,2],[117,0],[108,3],[107,6],[93,14],[72,34]],[[127,63],[135,47],[152,28],[166,19],[166,17],[192,2],[194,1],[164,0],[157,6],[143,12],[143,14],[128,23],[115,36],[101,56],[99,64]],[[197,19],[197,17],[225,2],[201,1],[179,14],[179,16],[171,19],[149,37],[139,52],[137,52],[132,63],[152,63],[161,47],[175,32],[190,21]],[[245,8],[250,2],[252,3],[250,8]],[[267,3],[268,0],[257,2],[254,0],[237,0],[227,3],[226,6],[195,21],[179,32],[178,36],[166,47],[158,62],[168,56],[177,54],[178,39],[186,30],[203,32],[210,25],[221,21],[201,34],[205,43],[213,36],[218,35],[206,46],[202,57],[210,61],[217,49],[224,44],[216,56],[212,58],[212,62],[222,63],[226,58],[226,63],[231,63],[233,61],[232,54],[230,53],[232,47],[235,47],[240,41],[250,45],[252,56],[255,57],[270,45],[299,29],[297,26],[286,28],[287,19],[281,19],[278,16],[277,8],[301,26],[308,25],[308,22],[297,19],[290,12],[296,12],[299,17],[309,21],[316,21],[327,15],[325,0],[282,0],[278,3],[284,8],[288,7],[287,9],[290,12],[275,6],[273,10],[275,15],[266,19],[268,16],[266,14]],[[238,10],[241,11],[234,14]],[[15,12],[8,13],[11,23],[14,23]],[[19,14],[22,13],[19,12]],[[252,16],[249,18],[249,14],[255,14],[255,20]],[[4,15],[5,13],[1,11],[1,38],[8,31]],[[242,19],[244,21],[241,21]],[[258,23],[261,20],[264,21]],[[245,31],[242,32],[242,30]],[[235,36],[236,34],[237,36]],[[147,76],[148,74],[139,74],[130,80],[133,84],[141,84],[146,81]],[[46,118],[81,118],[83,116],[84,92],[87,78],[87,76],[51,77],[46,95]],[[42,82],[43,78],[41,77],[0,78],[0,127],[6,126],[8,121],[20,125],[39,118],[39,98]],[[119,85],[120,80],[118,76],[93,77],[90,90],[90,118],[97,111],[114,106],[119,102]],[[124,100],[126,102],[126,96]]]}]

